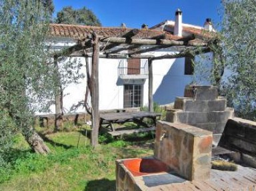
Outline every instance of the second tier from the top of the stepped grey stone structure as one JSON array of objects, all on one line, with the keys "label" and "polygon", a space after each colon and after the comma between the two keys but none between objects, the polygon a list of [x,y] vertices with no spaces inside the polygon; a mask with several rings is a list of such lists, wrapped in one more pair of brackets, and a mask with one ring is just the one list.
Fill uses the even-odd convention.
[{"label": "second tier from the top of the stepped grey stone structure", "polygon": [[209,112],[224,111],[227,107],[227,99],[218,97],[216,100],[193,100],[193,98],[176,97],[174,108],[184,111]]}]

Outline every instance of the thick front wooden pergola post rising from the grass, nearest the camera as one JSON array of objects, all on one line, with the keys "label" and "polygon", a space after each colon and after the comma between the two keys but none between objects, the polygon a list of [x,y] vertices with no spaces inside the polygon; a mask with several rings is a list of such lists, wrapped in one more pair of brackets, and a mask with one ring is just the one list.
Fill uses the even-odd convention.
[{"label": "thick front wooden pergola post rising from the grass, nearest the camera", "polygon": [[91,145],[95,148],[99,136],[99,37],[93,33],[93,59],[91,67],[92,132]]}]

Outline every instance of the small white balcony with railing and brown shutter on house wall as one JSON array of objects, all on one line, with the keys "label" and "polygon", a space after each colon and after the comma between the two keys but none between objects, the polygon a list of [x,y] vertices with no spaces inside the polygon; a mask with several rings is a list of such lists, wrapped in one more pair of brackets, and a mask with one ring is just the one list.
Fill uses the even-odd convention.
[{"label": "small white balcony with railing and brown shutter on house wall", "polygon": [[138,65],[129,65],[127,61],[122,60],[119,62],[117,71],[121,79],[147,79],[149,77],[147,60],[140,61]]}]

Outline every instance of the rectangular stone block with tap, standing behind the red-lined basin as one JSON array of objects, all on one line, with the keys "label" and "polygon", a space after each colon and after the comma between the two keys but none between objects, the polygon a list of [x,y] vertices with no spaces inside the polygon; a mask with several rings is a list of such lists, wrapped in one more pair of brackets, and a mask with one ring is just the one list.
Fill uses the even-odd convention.
[{"label": "rectangular stone block with tap, standing behind the red-lined basin", "polygon": [[210,176],[212,133],[189,126],[157,121],[155,158],[188,180]]}]

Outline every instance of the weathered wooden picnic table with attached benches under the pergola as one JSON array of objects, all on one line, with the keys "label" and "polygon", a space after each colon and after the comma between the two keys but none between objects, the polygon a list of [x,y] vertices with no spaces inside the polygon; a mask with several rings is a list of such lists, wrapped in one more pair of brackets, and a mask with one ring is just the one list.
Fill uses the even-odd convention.
[{"label": "weathered wooden picnic table with attached benches under the pergola", "polygon": [[[121,134],[132,134],[135,132],[147,132],[155,130],[157,116],[161,116],[161,113],[157,112],[109,112],[99,114],[100,122],[99,127],[107,131],[112,136],[119,136]],[[153,126],[150,126],[143,121],[144,118],[151,118],[153,120]],[[129,130],[118,130],[113,124],[124,124],[125,122],[134,122],[137,124],[137,128]],[[143,126],[143,128],[139,128]]]}]

